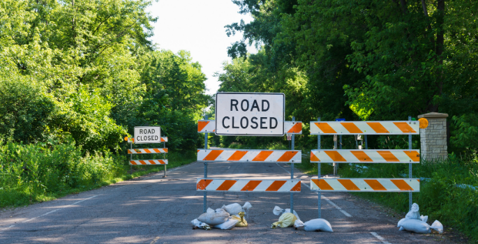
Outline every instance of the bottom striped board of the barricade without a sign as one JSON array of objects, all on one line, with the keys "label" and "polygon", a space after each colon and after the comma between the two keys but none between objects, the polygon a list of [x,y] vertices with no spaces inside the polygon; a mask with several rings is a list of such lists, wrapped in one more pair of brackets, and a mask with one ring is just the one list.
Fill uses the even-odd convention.
[{"label": "bottom striped board of the barricade without a sign", "polygon": [[419,178],[311,178],[321,192],[419,192]]}]

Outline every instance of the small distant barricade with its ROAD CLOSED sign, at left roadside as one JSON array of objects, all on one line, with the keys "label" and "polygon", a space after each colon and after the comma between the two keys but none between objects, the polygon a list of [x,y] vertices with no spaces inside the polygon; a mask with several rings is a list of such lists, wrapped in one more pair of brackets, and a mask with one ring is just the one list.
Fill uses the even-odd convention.
[{"label": "small distant barricade with its ROAD CLOSED sign, at left roadside", "polygon": [[[137,126],[134,129],[133,138],[126,137],[126,141],[130,143],[128,154],[130,155],[131,171],[133,165],[164,165],[164,176],[166,177],[166,142],[167,137],[161,137],[161,128],[159,126]],[[163,142],[163,148],[134,148],[133,144],[160,144]],[[163,153],[163,159],[149,160],[133,160],[133,155]]]}]

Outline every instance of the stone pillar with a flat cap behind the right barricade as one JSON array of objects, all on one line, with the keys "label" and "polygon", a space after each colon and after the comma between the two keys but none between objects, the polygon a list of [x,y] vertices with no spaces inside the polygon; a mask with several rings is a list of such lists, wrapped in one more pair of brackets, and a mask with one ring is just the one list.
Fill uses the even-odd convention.
[{"label": "stone pillar with a flat cap behind the right barricade", "polygon": [[428,113],[418,118],[428,120],[428,127],[420,129],[420,155],[422,160],[434,161],[448,158],[447,151],[447,117],[448,114]]}]

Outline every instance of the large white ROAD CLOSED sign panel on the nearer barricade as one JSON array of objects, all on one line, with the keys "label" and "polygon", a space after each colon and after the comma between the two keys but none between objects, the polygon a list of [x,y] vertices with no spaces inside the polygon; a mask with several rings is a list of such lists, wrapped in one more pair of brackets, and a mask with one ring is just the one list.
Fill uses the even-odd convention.
[{"label": "large white ROAD CLOSED sign panel on the nearer barricade", "polygon": [[284,93],[216,93],[216,135],[284,135]]}]

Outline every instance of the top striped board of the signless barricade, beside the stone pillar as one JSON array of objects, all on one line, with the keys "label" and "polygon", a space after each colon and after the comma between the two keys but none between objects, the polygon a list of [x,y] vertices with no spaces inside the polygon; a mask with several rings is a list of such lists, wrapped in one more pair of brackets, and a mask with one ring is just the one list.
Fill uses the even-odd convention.
[{"label": "top striped board of the signless barricade, beside the stone pillar", "polygon": [[419,121],[311,121],[311,135],[419,135]]}]

